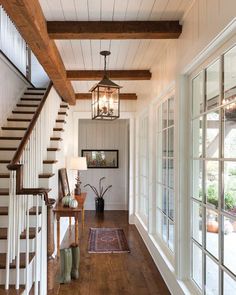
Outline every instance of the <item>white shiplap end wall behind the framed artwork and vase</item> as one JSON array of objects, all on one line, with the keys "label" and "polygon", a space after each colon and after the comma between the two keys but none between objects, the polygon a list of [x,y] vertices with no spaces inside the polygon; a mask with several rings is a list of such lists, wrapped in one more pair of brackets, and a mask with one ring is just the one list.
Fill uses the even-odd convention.
[{"label": "white shiplap end wall behind the framed artwork and vase", "polygon": [[[88,169],[81,171],[82,185],[90,183],[98,186],[105,176],[104,184],[112,185],[105,196],[106,210],[128,209],[128,121],[115,120],[100,122],[79,120],[79,155],[82,149],[118,149],[118,169]],[[90,189],[86,200],[86,209],[94,210],[94,193]]]}]

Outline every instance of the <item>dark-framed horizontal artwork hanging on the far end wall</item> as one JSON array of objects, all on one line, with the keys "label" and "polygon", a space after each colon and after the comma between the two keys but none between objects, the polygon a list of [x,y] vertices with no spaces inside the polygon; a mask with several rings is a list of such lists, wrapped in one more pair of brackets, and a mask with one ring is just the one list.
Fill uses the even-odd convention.
[{"label": "dark-framed horizontal artwork hanging on the far end wall", "polygon": [[119,168],[118,150],[82,150],[88,168]]}]

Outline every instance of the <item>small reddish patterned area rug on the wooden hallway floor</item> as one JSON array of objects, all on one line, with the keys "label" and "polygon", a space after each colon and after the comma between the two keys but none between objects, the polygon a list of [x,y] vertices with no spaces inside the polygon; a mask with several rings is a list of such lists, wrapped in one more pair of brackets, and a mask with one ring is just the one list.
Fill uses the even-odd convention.
[{"label": "small reddish patterned area rug on the wooden hallway floor", "polygon": [[89,253],[126,253],[130,252],[123,229],[90,228]]}]

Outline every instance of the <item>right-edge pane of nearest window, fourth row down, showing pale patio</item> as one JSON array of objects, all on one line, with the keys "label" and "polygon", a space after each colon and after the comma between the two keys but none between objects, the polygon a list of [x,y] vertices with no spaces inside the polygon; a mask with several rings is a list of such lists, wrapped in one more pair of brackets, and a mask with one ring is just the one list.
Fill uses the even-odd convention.
[{"label": "right-edge pane of nearest window, fourth row down, showing pale patio", "polygon": [[224,265],[236,274],[236,221],[224,217]]}]

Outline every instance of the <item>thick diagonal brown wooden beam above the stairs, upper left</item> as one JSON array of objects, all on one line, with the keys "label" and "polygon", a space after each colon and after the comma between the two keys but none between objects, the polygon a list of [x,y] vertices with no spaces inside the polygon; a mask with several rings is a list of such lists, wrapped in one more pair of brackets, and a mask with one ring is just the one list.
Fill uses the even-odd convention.
[{"label": "thick diagonal brown wooden beam above the stairs, upper left", "polygon": [[70,104],[75,103],[71,82],[56,44],[47,33],[46,21],[37,0],[1,0],[1,4],[16,24],[19,32],[52,80],[58,93]]}]

